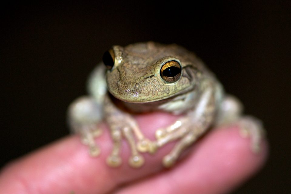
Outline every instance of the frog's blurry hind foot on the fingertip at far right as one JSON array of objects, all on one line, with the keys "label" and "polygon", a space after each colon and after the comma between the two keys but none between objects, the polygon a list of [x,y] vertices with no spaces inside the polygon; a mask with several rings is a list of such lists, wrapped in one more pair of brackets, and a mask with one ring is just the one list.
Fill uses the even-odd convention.
[{"label": "frog's blurry hind foot on the fingertip at far right", "polygon": [[258,153],[261,150],[261,141],[266,134],[263,124],[258,119],[251,116],[244,116],[237,122],[242,137],[250,137],[251,150]]}]

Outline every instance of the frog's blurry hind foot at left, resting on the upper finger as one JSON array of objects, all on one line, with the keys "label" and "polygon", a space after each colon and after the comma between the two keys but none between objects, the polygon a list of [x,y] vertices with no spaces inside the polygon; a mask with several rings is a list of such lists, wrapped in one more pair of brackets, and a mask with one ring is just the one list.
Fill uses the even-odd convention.
[{"label": "frog's blurry hind foot at left, resting on the upper finger", "polygon": [[100,155],[100,148],[95,144],[94,138],[102,134],[100,128],[96,128],[96,125],[84,125],[80,131],[81,142],[89,146],[89,154],[93,157]]}]

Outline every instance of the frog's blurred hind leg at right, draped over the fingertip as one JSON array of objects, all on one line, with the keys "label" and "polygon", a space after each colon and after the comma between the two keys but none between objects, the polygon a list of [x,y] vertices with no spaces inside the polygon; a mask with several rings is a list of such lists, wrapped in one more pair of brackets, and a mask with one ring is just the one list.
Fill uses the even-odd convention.
[{"label": "frog's blurred hind leg at right, draped over the fingertip", "polygon": [[250,137],[251,150],[257,153],[260,151],[260,142],[265,135],[265,130],[261,121],[252,116],[242,115],[242,112],[243,106],[239,100],[234,96],[226,95],[221,103],[215,125],[238,125],[240,135]]}]

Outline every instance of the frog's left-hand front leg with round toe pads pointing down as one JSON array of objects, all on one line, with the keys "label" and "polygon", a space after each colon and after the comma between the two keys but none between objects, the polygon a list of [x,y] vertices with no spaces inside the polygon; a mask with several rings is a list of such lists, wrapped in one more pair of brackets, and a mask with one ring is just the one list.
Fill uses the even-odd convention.
[{"label": "frog's left-hand front leg with round toe pads pointing down", "polygon": [[142,152],[144,150],[143,145],[147,145],[149,140],[146,139],[139,130],[139,126],[135,119],[129,113],[118,109],[112,103],[108,95],[105,97],[104,114],[111,131],[112,140],[114,142],[112,152],[107,158],[107,164],[112,167],[121,165],[122,160],[119,155],[122,137],[124,137],[129,143],[131,149],[131,156],[128,161],[129,165],[134,168],[142,166],[144,163],[144,158],[139,154],[139,151]]}]

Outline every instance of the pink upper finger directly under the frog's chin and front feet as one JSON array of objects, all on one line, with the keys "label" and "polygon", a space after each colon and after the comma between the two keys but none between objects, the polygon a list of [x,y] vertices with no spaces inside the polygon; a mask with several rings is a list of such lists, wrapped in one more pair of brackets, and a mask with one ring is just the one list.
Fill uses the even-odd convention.
[{"label": "pink upper finger directly under the frog's chin and front feet", "polygon": [[[165,127],[176,118],[155,113],[137,120],[142,131],[153,136],[156,128]],[[102,150],[96,158],[89,156],[87,146],[81,144],[79,137],[70,136],[12,162],[0,175],[0,193],[107,193],[120,184],[161,170],[162,156],[171,149],[167,145],[153,156],[144,154],[145,165],[133,169],[127,164],[130,149],[123,142],[124,163],[119,168],[110,168],[105,163],[112,149],[107,129],[96,142]]]}]

